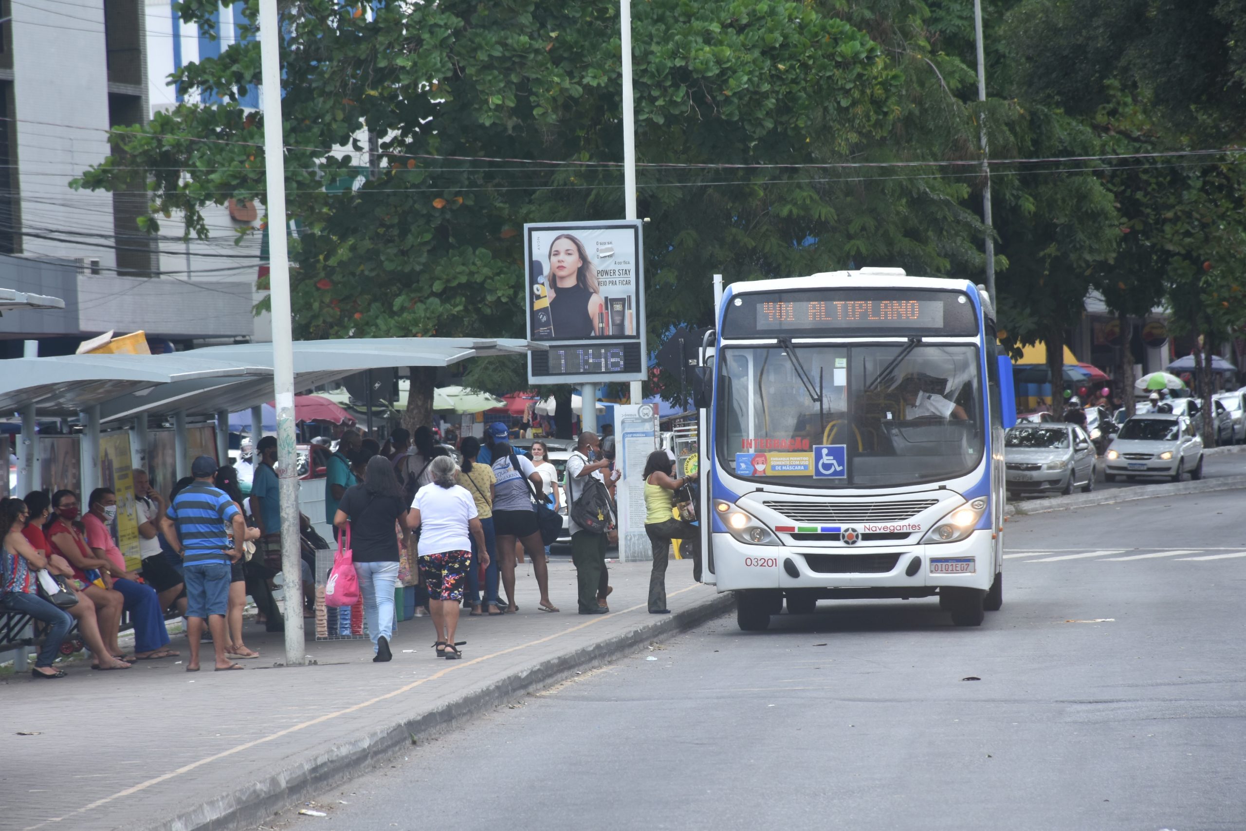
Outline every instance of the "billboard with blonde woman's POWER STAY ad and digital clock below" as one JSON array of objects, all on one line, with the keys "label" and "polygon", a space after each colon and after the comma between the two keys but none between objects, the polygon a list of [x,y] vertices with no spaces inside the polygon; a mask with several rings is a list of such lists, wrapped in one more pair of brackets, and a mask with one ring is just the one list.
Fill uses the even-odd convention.
[{"label": "billboard with blonde woman's POWER STAY ad and digital clock below", "polygon": [[[643,380],[640,222],[525,226],[530,380]],[[554,346],[553,344],[557,344]]]}]

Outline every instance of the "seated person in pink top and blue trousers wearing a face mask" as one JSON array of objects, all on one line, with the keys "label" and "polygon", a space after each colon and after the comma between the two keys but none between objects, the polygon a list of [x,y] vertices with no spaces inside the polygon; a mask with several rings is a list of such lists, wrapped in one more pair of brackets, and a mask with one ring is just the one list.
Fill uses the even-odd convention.
[{"label": "seated person in pink top and blue trousers wearing a face mask", "polygon": [[168,630],[156,589],[138,582],[136,572],[126,571],[126,558],[112,541],[108,526],[117,518],[117,495],[107,487],[91,491],[90,511],[82,517],[86,542],[91,552],[108,563],[112,588],[125,598],[125,610],[135,623],[135,657],[138,660],[177,658],[179,653],[166,649]]}]

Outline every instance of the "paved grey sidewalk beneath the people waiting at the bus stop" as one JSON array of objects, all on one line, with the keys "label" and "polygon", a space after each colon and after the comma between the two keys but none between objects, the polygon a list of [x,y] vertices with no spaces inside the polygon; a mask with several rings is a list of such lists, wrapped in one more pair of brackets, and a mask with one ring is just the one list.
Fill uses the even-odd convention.
[{"label": "paved grey sidewalk beneath the people waiting at the bus stop", "polygon": [[537,610],[531,566],[520,566],[520,613],[465,615],[459,662],[434,657],[432,624],[416,618],[399,624],[388,664],[371,663],[368,642],[309,640],[318,665],[273,668],[283,658],[282,635],[248,624],[247,643],[263,658],[240,662],[247,672],[213,673],[209,658],[203,672],[188,674],[186,638],[174,637],[182,664],[140,662],[101,673],[80,662],[57,681],[12,678],[0,684],[0,829],[255,825],[363,772],[412,735],[731,607],[729,594],[693,583],[690,561],[670,563],[670,615],[647,612],[648,563],[611,564],[612,612],[603,615],[576,613],[568,562],[554,559],[549,572],[561,613]]}]

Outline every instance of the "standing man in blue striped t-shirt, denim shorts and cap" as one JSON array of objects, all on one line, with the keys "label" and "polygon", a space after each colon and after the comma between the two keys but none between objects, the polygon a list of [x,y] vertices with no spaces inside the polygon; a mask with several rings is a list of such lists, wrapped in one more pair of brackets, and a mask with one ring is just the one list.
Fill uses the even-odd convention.
[{"label": "standing man in blue striped t-shirt, denim shorts and cap", "polygon": [[[161,529],[164,539],[182,556],[186,579],[186,628],[191,660],[186,672],[199,672],[199,639],[207,622],[216,648],[217,672],[242,669],[226,658],[226,612],[229,605],[229,564],[242,559],[247,523],[242,511],[226,492],[212,483],[217,460],[199,456],[191,463],[194,482],[169,503]],[[233,547],[227,536],[232,526]]]}]

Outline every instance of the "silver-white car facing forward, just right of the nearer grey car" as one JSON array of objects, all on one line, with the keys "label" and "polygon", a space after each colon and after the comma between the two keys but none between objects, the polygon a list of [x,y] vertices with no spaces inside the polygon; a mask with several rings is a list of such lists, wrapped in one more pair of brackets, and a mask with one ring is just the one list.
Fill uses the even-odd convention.
[{"label": "silver-white car facing forward, just right of the nearer grey car", "polygon": [[1185,475],[1202,478],[1202,439],[1189,419],[1171,414],[1135,415],[1108,447],[1104,480]]}]

